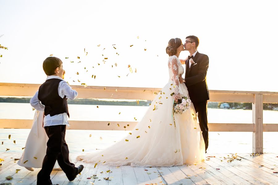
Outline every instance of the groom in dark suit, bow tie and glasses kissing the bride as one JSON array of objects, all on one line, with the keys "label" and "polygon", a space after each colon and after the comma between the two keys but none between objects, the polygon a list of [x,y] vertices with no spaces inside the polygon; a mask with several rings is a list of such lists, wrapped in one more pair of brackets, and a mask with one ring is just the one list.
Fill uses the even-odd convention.
[{"label": "groom in dark suit, bow tie and glasses kissing the bride", "polygon": [[[203,138],[205,142],[206,152],[208,149],[208,117],[207,105],[209,100],[207,71],[208,56],[197,51],[199,39],[194,35],[187,36],[183,45],[184,50],[189,51],[190,56],[185,61],[185,78],[184,83],[187,86],[190,99],[198,112],[198,119]],[[192,59],[192,60],[191,60]]]}]

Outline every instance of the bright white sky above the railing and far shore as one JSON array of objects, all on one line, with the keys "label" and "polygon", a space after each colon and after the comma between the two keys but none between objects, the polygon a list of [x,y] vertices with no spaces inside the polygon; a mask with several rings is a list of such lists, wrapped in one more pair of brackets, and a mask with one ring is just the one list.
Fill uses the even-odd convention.
[{"label": "bright white sky above the railing and far shore", "polygon": [[43,60],[53,54],[71,85],[162,88],[169,39],[196,35],[209,57],[209,89],[278,92],[276,8],[247,0],[0,0],[0,44],[8,47],[0,50],[0,82],[43,83]]}]

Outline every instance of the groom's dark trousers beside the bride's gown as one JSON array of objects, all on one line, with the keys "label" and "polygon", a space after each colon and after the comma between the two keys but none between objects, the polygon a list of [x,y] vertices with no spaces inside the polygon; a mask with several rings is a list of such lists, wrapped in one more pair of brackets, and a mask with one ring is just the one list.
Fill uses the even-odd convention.
[{"label": "groom's dark trousers beside the bride's gown", "polygon": [[200,123],[200,128],[203,132],[204,143],[206,151],[208,149],[208,102],[202,101],[199,103],[194,103],[196,112],[198,112],[198,119]]}]

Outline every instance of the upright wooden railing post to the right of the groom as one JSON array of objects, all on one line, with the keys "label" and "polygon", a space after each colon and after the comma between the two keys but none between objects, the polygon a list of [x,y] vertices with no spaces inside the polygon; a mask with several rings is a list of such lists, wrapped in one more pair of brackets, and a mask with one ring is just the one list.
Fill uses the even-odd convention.
[{"label": "upright wooden railing post to the right of the groom", "polygon": [[263,153],[263,94],[254,94],[252,103],[252,120],[255,126],[253,132],[253,153]]}]

